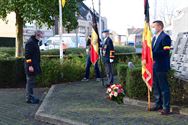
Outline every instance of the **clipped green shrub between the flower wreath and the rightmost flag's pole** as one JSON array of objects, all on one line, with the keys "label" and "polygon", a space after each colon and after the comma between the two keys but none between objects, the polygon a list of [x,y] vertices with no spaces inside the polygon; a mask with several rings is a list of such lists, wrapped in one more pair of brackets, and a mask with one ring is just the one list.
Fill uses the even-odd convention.
[{"label": "clipped green shrub between the flower wreath and the rightmost flag's pole", "polygon": [[126,92],[131,98],[147,98],[147,87],[142,80],[141,68],[127,70]]}]

